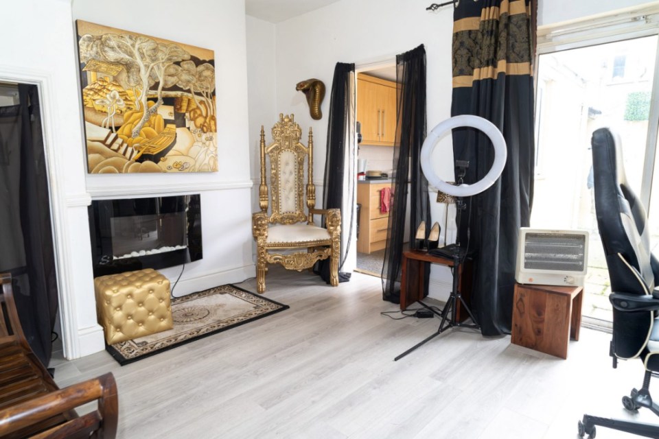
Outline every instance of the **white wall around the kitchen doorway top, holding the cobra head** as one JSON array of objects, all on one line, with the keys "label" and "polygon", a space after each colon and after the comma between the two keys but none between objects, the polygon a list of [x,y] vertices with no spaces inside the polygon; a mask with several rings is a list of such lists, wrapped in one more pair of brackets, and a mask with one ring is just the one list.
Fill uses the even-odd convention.
[{"label": "white wall around the kitchen doorway top, holding the cobra head", "polygon": [[[319,156],[324,156],[327,118],[311,119],[304,95],[295,84],[318,78],[327,86],[323,114],[336,62],[357,67],[390,62],[423,43],[428,62],[428,126],[450,116],[452,9],[428,12],[406,0],[343,0],[277,24],[277,106],[312,126]],[[323,172],[316,161],[314,172]],[[318,175],[321,175],[318,174]]]}]

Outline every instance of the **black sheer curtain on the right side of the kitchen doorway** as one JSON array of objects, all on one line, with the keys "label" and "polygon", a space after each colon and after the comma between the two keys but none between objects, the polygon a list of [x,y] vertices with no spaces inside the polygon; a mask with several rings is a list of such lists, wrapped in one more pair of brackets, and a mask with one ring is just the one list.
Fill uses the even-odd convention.
[{"label": "black sheer curtain on the right side of the kitchen doorway", "polygon": [[[382,298],[400,303],[400,274],[405,234],[406,202],[410,196],[408,237],[414,238],[417,226],[430,226],[428,180],[421,171],[419,156],[426,139],[426,49],[424,45],[396,56],[396,79],[400,86],[397,99],[396,145],[393,149],[391,182],[393,202],[389,213],[389,230],[382,266]],[[409,182],[409,188],[408,188]],[[428,274],[425,270],[425,291]]]}]

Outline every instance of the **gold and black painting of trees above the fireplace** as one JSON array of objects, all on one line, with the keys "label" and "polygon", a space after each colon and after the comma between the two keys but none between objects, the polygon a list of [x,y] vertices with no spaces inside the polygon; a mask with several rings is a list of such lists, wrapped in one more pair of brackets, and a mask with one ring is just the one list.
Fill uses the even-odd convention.
[{"label": "gold and black painting of trees above the fireplace", "polygon": [[89,173],[217,171],[213,51],[77,25]]}]

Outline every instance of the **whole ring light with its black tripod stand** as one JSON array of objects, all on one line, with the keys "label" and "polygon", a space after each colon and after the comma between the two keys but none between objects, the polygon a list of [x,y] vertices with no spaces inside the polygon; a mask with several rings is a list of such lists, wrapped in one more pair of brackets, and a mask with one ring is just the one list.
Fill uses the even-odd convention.
[{"label": "whole ring light with its black tripod stand", "polygon": [[[467,185],[463,182],[463,178],[467,173],[467,167],[469,167],[469,162],[457,160],[455,162],[455,167],[457,170],[456,172],[457,181],[456,181],[456,186],[453,186],[441,180],[441,178],[437,176],[435,170],[432,169],[431,156],[432,156],[432,151],[435,150],[437,143],[439,142],[441,137],[443,137],[443,134],[446,131],[452,130],[453,128],[460,128],[463,126],[477,128],[478,130],[481,130],[484,134],[486,134],[487,137],[489,137],[490,141],[492,141],[492,145],[494,146],[494,163],[492,163],[492,168],[490,168],[489,172],[485,174],[485,177],[483,177],[481,180],[478,180],[478,182],[474,183],[473,185]],[[506,165],[507,155],[508,153],[506,149],[506,141],[503,138],[503,134],[501,134],[501,132],[498,130],[498,128],[496,128],[496,126],[494,126],[492,122],[478,116],[462,115],[462,116],[451,117],[450,119],[447,119],[446,121],[439,123],[439,125],[437,125],[435,128],[432,128],[432,131],[430,131],[430,134],[428,134],[428,137],[426,137],[426,141],[424,141],[424,145],[421,147],[421,169],[423,169],[424,171],[426,180],[428,180],[428,182],[430,182],[431,185],[435,186],[439,191],[442,191],[443,193],[448,193],[448,195],[453,195],[454,197],[456,197],[455,222],[458,233],[456,234],[455,244],[446,246],[442,249],[438,249],[441,250],[439,252],[435,250],[436,252],[435,254],[440,254],[443,257],[448,257],[453,259],[453,285],[452,285],[452,291],[448,297],[448,300],[446,301],[446,305],[444,305],[443,309],[441,310],[441,313],[439,313],[441,315],[441,323],[439,324],[439,329],[437,329],[437,332],[430,335],[430,337],[427,337],[425,340],[415,344],[415,346],[412,346],[401,355],[395,357],[394,361],[401,359],[402,357],[404,357],[408,353],[411,353],[422,344],[425,344],[426,342],[432,340],[432,338],[437,337],[437,335],[443,333],[444,331],[448,331],[448,329],[452,329],[456,327],[471,328],[471,329],[481,328],[478,322],[476,322],[476,318],[474,318],[474,314],[472,313],[471,309],[467,306],[467,303],[465,302],[459,290],[460,265],[461,263],[463,263],[467,254],[467,248],[463,249],[460,247],[461,217],[462,217],[462,211],[466,209],[466,204],[463,198],[476,195],[477,193],[481,193],[486,189],[488,189],[490,186],[494,185],[494,182],[496,182],[496,179],[499,178],[501,172],[503,171],[503,168]],[[419,300],[419,302],[421,301]],[[472,319],[472,322],[474,323],[466,324],[458,321],[456,316],[456,307],[458,303],[461,303],[461,307],[465,309],[467,313],[469,313],[469,316]],[[424,307],[429,308],[423,302],[421,302],[421,305],[424,305]]]}]

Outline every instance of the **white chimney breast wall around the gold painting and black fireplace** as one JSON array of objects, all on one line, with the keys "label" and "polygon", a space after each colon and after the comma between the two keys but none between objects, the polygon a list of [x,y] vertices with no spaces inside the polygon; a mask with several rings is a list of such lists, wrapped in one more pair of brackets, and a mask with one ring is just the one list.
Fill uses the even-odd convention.
[{"label": "white chimney breast wall around the gold painting and black fireplace", "polygon": [[[189,294],[254,276],[251,178],[247,116],[247,56],[244,0],[117,0],[112,8],[73,1],[82,19],[215,52],[218,171],[187,175],[86,175],[93,198],[201,193],[203,259],[185,266],[175,294]],[[130,11],[130,13],[126,13]],[[187,14],[186,11],[196,11]],[[172,285],[181,267],[160,270]]]}]

